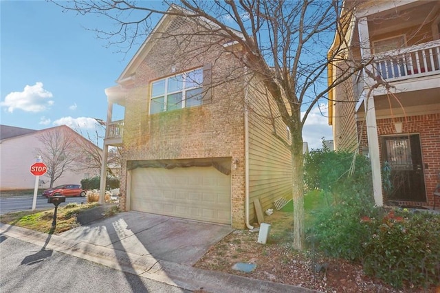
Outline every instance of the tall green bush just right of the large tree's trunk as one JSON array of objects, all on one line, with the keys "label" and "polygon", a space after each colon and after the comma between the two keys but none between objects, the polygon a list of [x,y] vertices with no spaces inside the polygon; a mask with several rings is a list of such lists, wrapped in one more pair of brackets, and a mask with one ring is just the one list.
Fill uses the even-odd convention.
[{"label": "tall green bush just right of the large tree's trunk", "polygon": [[360,261],[363,245],[371,235],[360,219],[379,213],[369,160],[347,152],[311,151],[306,158],[305,180],[309,188],[324,191],[329,203],[314,213],[308,239],[331,257]]}]

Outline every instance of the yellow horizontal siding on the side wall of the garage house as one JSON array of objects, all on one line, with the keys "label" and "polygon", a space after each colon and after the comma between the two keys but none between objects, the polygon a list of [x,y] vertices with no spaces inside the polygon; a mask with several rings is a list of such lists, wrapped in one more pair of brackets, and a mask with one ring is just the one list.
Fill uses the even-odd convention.
[{"label": "yellow horizontal siding on the side wall of the garage house", "polygon": [[[275,103],[269,99],[263,83],[253,80],[248,95],[249,107],[249,177],[250,177],[250,222],[256,220],[254,199],[259,198],[264,210],[274,208],[279,197],[292,197],[292,164],[289,149],[272,133],[273,126],[267,119],[272,110],[279,116]],[[265,117],[261,117],[265,116]],[[276,118],[276,133],[287,140],[287,127]]]}]

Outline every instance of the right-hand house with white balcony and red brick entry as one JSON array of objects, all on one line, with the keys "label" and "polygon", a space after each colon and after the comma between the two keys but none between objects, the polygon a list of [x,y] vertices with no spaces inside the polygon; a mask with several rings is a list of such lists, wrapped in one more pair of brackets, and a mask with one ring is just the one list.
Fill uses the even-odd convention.
[{"label": "right-hand house with white balcony and red brick entry", "polygon": [[432,208],[440,172],[440,2],[364,1],[343,17],[351,18],[343,28],[349,34],[336,34],[329,52],[341,43],[346,51],[329,66],[329,83],[349,59],[369,65],[329,94],[335,149],[371,158],[376,204]]}]

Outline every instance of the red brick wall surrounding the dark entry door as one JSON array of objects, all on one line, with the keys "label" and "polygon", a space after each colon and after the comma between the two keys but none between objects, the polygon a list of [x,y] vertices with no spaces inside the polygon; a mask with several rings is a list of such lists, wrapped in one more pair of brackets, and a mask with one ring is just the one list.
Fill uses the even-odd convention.
[{"label": "red brick wall surrounding the dark entry door", "polygon": [[[433,206],[435,186],[439,182],[438,173],[440,172],[440,113],[420,116],[408,116],[401,118],[388,118],[377,120],[377,131],[379,135],[396,134],[394,123],[402,122],[401,134],[419,134],[421,142],[421,152],[423,160],[423,175],[425,177],[426,203],[419,202],[399,202],[400,205],[427,205]],[[358,122],[358,132],[360,133]],[[362,131],[361,145],[366,146],[366,131]],[[380,146],[381,147],[381,146]],[[382,162],[382,153],[381,153]],[[437,202],[439,202],[437,200]]]}]

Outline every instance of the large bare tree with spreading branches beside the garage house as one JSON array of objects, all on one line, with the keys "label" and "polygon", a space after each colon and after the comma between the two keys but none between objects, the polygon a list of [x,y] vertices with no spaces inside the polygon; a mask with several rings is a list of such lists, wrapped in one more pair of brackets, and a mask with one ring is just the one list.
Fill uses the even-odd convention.
[{"label": "large bare tree with spreading branches beside the garage house", "polygon": [[[348,65],[344,67],[331,85],[327,85],[327,66],[344,54],[347,44],[343,28],[349,25],[350,17],[341,17],[341,1],[314,0],[243,0],[243,1],[164,1],[177,3],[176,9],[165,10],[156,3],[135,1],[83,1],[72,3],[56,2],[65,10],[80,14],[100,14],[117,24],[112,32],[96,29],[98,37],[109,40],[110,45],[128,44],[126,50],[137,44],[138,39],[151,33],[156,22],[156,14],[173,14],[197,23],[198,36],[206,36],[200,50],[209,50],[218,45],[219,39],[240,45],[240,52],[234,54],[237,63],[244,65],[250,78],[259,80],[267,91],[264,94],[274,111],[258,113],[267,123],[283,122],[289,129],[291,140],[274,131],[292,154],[292,180],[294,200],[294,243],[296,249],[303,246],[303,127],[311,110],[318,101],[336,85],[347,80],[353,72],[365,63],[353,63],[341,59]],[[351,5],[355,6],[355,1]],[[136,13],[133,13],[135,12]],[[143,13],[142,13],[143,12]],[[349,12],[346,12],[349,14]],[[135,15],[139,16],[138,19]],[[337,32],[340,47],[333,47],[327,54],[333,36]],[[166,32],[175,37],[173,32]],[[164,35],[162,35],[164,36]],[[191,35],[181,36],[179,50],[185,50]],[[203,47],[203,49],[202,49]],[[224,50],[230,47],[224,46]],[[243,71],[229,77],[241,76]],[[240,105],[243,101],[231,101]],[[245,101],[246,102],[246,101]],[[272,106],[270,106],[272,107]],[[243,108],[245,109],[245,108]],[[276,129],[276,127],[274,127]]]}]

